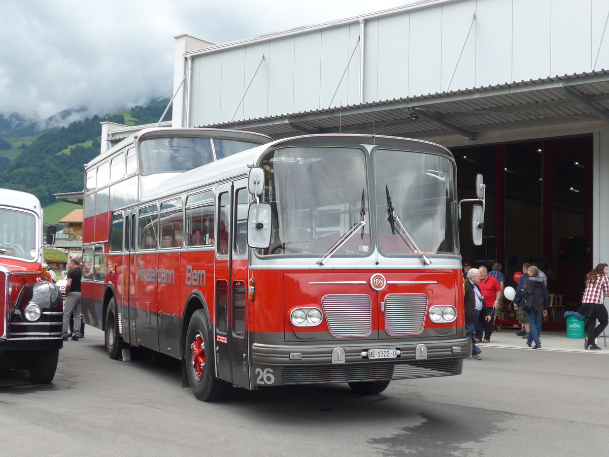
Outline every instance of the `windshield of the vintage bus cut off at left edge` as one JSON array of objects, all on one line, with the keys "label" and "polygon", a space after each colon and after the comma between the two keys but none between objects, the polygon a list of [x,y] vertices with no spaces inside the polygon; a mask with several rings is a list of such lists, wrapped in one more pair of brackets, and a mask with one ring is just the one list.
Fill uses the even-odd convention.
[{"label": "windshield of the vintage bus cut off at left edge", "polygon": [[35,260],[36,227],[33,214],[0,208],[0,255]]}]

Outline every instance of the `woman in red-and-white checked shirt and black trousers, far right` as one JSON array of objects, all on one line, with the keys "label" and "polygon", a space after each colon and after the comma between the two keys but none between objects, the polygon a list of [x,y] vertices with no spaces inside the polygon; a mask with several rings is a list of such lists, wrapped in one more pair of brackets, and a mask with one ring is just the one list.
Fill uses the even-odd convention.
[{"label": "woman in red-and-white checked shirt and black trousers, far right", "polygon": [[[586,290],[583,292],[582,306],[579,313],[588,317],[586,319],[586,329],[588,336],[583,339],[584,349],[600,350],[596,344],[596,338],[603,333],[607,323],[607,308],[603,304],[605,295],[609,295],[609,267],[606,263],[599,263],[596,268],[586,274]],[[596,325],[596,319],[599,325]]]}]

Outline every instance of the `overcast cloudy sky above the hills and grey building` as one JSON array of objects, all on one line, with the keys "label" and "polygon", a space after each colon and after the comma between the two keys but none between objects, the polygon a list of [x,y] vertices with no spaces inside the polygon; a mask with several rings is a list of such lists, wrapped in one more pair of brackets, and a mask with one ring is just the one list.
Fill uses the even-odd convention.
[{"label": "overcast cloudy sky above the hills and grey building", "polygon": [[0,0],[0,113],[171,97],[174,37],[221,44],[413,0]]}]

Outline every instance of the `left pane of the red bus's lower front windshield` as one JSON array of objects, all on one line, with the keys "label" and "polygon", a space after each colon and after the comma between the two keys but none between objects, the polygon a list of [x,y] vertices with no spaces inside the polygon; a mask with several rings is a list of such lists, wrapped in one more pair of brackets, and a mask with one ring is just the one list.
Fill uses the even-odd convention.
[{"label": "left pane of the red bus's lower front windshield", "polygon": [[[262,160],[264,200],[273,207],[269,250],[277,254],[324,253],[370,206],[365,152],[346,147],[289,147]],[[363,195],[363,196],[362,196]],[[370,225],[362,226],[337,252],[365,255],[371,249]]]}]

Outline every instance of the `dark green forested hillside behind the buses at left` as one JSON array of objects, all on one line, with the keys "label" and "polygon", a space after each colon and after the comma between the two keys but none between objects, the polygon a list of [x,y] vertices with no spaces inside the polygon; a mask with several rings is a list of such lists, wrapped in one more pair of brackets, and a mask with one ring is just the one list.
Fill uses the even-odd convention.
[{"label": "dark green forested hillside behind the buses at left", "polygon": [[[166,103],[160,101],[147,107],[133,107],[131,117],[135,122],[130,123],[140,125],[158,121],[165,107],[163,102]],[[83,165],[100,152],[100,122],[124,124],[124,119],[122,114],[103,118],[96,115],[42,133],[15,160],[0,157],[0,187],[35,194],[43,206],[55,202],[53,194],[81,191]],[[171,111],[164,120],[171,120]],[[91,146],[88,146],[90,140]]]}]

